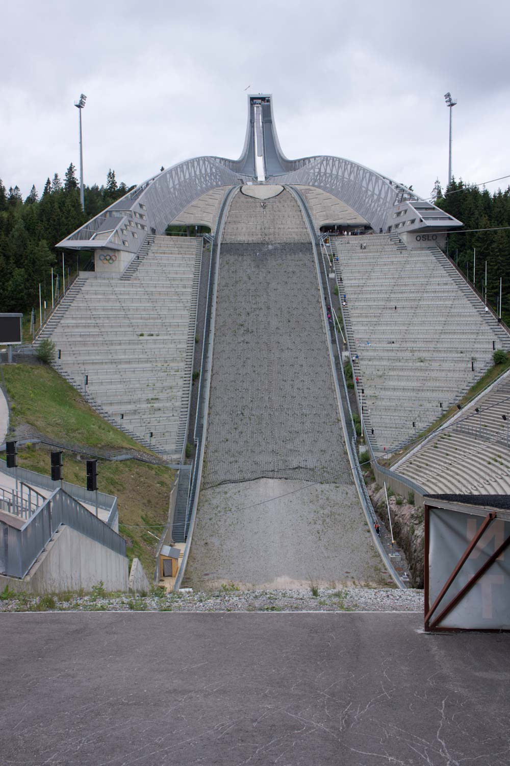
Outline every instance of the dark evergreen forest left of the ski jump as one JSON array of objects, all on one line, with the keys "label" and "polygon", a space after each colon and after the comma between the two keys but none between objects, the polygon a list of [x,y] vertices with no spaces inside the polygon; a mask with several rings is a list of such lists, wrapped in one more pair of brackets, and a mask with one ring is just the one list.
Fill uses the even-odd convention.
[{"label": "dark evergreen forest left of the ski jump", "polygon": [[[85,212],[80,205],[80,185],[73,163],[63,181],[58,173],[47,179],[39,197],[32,186],[26,199],[18,186],[9,188],[0,179],[0,313],[23,312],[25,321],[31,309],[42,300],[51,306],[51,267],[59,274],[62,289],[62,254],[54,245],[90,218],[112,205],[130,189],[118,184],[115,171],[109,170],[106,185],[84,187]],[[90,254],[80,254],[80,267]],[[64,254],[64,270],[76,273],[76,254]],[[56,281],[56,280],[55,280]]]}]

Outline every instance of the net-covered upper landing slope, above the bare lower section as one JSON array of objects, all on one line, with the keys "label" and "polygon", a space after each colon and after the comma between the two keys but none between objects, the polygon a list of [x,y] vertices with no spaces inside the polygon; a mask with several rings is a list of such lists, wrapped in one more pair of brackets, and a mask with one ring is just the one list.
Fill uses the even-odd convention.
[{"label": "net-covered upper landing slope, above the bare lower section", "polygon": [[[261,476],[348,483],[311,243],[288,191],[265,204],[238,194],[229,208],[202,486]],[[243,231],[273,244],[232,244]]]}]

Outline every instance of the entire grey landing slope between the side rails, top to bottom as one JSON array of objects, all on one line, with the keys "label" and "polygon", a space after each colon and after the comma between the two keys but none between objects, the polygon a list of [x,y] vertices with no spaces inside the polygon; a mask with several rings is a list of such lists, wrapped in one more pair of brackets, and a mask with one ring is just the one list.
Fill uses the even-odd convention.
[{"label": "entire grey landing slope between the side rails, top to bottom", "polygon": [[294,197],[227,212],[186,584],[388,582],[352,480],[317,269]]}]

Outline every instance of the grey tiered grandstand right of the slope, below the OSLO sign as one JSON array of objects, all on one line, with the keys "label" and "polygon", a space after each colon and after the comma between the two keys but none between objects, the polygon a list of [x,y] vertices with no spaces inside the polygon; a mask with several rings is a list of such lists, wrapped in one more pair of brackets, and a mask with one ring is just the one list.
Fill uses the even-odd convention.
[{"label": "grey tiered grandstand right of the slope, below the OSLO sign", "polygon": [[332,242],[366,430],[391,450],[459,401],[510,337],[438,248],[387,234]]}]

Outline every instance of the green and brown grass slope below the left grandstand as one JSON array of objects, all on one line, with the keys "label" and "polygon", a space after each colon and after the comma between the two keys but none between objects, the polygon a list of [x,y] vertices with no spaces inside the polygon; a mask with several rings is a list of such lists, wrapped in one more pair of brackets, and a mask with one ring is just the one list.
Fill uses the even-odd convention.
[{"label": "green and brown grass slope below the left grandstand", "polygon": [[[53,369],[42,365],[4,367],[13,413],[11,428],[28,423],[54,440],[84,447],[144,450],[100,417],[83,397]],[[27,444],[18,447],[18,465],[50,475],[50,449]],[[86,485],[86,461],[75,453],[63,456],[63,477]],[[138,460],[98,463],[98,488],[116,495],[119,532],[128,543],[128,558],[137,556],[151,580],[158,538],[167,522],[168,499],[175,471]],[[152,534],[149,534],[151,532]],[[153,536],[155,535],[155,536]]]}]

